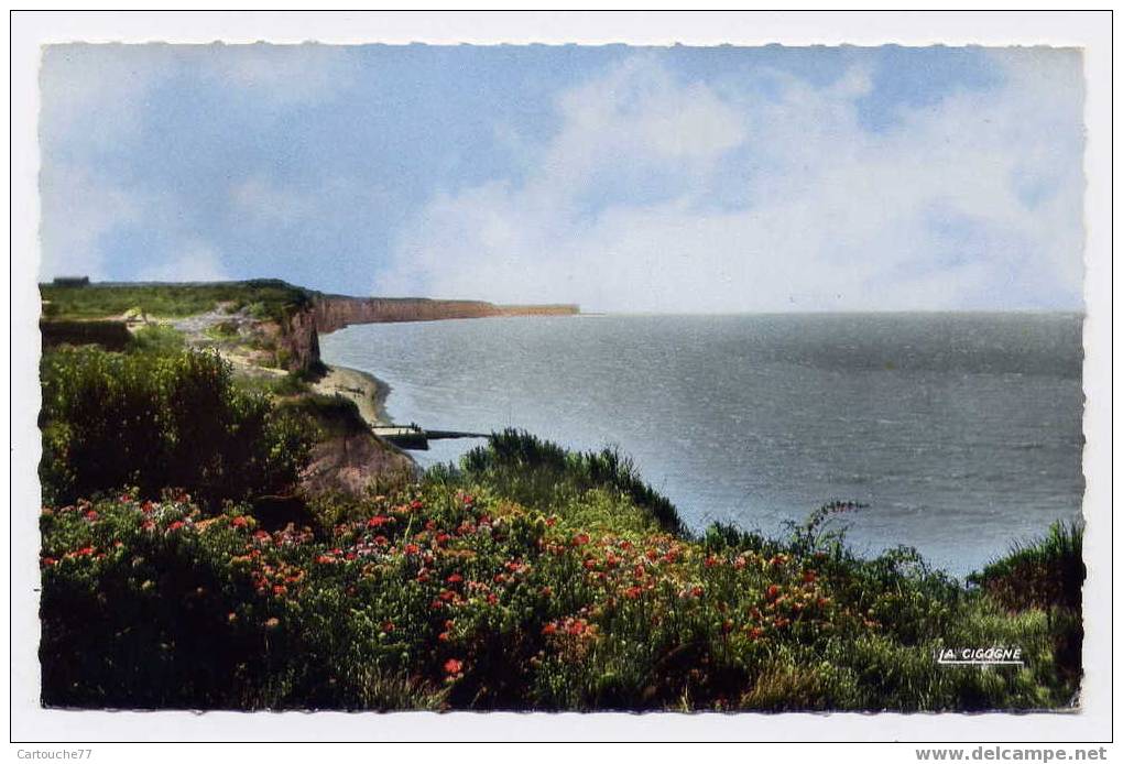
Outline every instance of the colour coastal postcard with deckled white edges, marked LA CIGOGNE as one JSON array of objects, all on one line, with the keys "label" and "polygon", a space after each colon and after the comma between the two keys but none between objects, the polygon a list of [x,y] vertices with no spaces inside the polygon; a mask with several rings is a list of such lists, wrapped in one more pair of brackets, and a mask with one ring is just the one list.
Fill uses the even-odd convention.
[{"label": "colour coastal postcard with deckled white edges, marked LA CIGOGNE", "polygon": [[156,39],[36,51],[37,713],[1088,720],[1079,39]]}]

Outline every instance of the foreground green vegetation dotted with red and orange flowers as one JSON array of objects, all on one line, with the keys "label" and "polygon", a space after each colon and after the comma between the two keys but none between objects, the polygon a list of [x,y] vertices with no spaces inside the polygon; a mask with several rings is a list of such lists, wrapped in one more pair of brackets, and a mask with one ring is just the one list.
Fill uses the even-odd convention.
[{"label": "foreground green vegetation dotted with red and orange flowers", "polygon": [[[540,511],[445,471],[328,534],[128,492],[44,511],[44,700],[143,708],[1057,708],[1077,612],[1011,615],[898,551]],[[110,607],[107,607],[110,606]],[[1017,645],[1024,668],[943,667]]]}]

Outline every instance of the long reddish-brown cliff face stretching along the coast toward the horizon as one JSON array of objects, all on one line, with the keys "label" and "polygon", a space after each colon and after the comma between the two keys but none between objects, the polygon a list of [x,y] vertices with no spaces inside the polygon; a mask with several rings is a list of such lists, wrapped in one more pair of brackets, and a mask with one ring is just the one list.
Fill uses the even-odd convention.
[{"label": "long reddish-brown cliff face stretching along the coast toward the horizon", "polygon": [[310,369],[320,361],[319,335],[353,324],[441,321],[454,318],[496,316],[574,316],[577,306],[496,306],[481,300],[429,300],[424,298],[356,298],[317,295],[311,308],[289,318],[282,328],[282,347],[290,370]]}]

